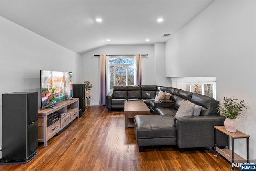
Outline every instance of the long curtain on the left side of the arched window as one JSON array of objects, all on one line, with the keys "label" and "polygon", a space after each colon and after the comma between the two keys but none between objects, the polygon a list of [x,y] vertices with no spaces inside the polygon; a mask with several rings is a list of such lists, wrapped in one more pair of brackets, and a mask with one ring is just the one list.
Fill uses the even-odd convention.
[{"label": "long curtain on the left side of the arched window", "polygon": [[107,55],[100,55],[100,105],[106,105],[107,96]]}]

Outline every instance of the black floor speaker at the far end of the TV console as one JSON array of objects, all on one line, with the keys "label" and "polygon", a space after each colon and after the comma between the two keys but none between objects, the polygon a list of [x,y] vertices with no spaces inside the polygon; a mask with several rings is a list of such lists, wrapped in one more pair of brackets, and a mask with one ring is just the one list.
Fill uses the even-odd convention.
[{"label": "black floor speaker at the far end of the TV console", "polygon": [[85,111],[84,92],[84,84],[73,84],[73,97],[79,98],[79,117],[84,115]]}]

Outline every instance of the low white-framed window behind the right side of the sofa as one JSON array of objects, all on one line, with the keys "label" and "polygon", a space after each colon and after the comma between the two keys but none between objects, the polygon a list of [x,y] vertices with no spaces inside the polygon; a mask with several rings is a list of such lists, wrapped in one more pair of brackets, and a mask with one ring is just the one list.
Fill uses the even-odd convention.
[{"label": "low white-framed window behind the right side of the sofa", "polygon": [[186,82],[186,91],[208,95],[216,99],[215,82]]}]

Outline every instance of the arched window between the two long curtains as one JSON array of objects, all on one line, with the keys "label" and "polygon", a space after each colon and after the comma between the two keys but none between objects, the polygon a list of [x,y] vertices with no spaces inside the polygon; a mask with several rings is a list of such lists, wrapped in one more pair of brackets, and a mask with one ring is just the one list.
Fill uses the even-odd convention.
[{"label": "arched window between the two long curtains", "polygon": [[108,62],[111,90],[114,85],[134,85],[134,58],[112,58]]}]

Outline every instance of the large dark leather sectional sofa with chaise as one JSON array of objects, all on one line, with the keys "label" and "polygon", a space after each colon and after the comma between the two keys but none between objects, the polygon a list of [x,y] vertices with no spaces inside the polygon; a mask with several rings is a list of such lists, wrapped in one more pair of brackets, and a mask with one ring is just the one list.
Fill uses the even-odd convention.
[{"label": "large dark leather sectional sofa with chaise", "polygon": [[[155,101],[160,91],[170,99]],[[175,117],[180,104],[190,101],[202,106],[199,116]],[[218,101],[206,95],[162,86],[115,86],[107,95],[108,110],[124,108],[124,101],[144,101],[154,115],[136,115],[134,129],[139,151],[145,146],[177,145],[185,148],[214,147],[214,126],[224,125],[225,117],[217,111]],[[217,131],[218,146],[227,146],[228,137]]]}]

